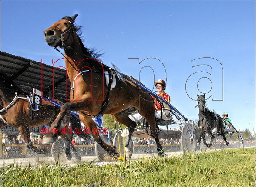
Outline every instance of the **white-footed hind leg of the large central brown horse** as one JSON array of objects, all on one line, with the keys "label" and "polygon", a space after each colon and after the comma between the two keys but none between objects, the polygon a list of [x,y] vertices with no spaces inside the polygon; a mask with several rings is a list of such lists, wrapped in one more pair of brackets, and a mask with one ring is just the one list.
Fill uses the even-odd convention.
[{"label": "white-footed hind leg of the large central brown horse", "polygon": [[113,118],[118,121],[121,124],[124,124],[128,127],[129,130],[129,135],[127,136],[126,140],[125,140],[125,147],[129,146],[130,140],[131,140],[131,135],[134,131],[134,129],[136,128],[137,124],[132,121],[128,116],[128,113],[125,112],[119,112],[117,114],[113,114],[112,115]]}]

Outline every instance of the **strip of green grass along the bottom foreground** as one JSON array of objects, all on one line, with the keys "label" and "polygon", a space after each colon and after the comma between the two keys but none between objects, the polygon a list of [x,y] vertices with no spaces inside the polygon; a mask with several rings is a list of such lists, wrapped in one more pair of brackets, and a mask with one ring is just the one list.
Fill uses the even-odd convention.
[{"label": "strip of green grass along the bottom foreground", "polygon": [[255,148],[152,157],[104,167],[1,167],[1,186],[255,186]]}]

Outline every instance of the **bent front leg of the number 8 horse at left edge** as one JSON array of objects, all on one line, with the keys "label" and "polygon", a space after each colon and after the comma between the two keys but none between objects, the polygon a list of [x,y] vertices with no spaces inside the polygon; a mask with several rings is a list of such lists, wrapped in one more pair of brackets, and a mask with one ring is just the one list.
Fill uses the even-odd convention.
[{"label": "bent front leg of the number 8 horse at left edge", "polygon": [[31,139],[30,139],[30,133],[28,126],[20,126],[18,127],[20,131],[20,135],[22,138],[24,138],[25,144],[27,145],[27,148],[31,149],[32,151],[36,152],[37,154],[45,154],[47,150],[45,148],[43,149],[37,149],[33,146]]}]

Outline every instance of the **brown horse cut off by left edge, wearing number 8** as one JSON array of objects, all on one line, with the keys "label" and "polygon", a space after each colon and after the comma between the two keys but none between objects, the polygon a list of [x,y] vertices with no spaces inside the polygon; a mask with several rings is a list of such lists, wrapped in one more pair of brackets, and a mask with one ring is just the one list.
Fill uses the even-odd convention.
[{"label": "brown horse cut off by left edge, wearing number 8", "polygon": [[[0,83],[1,128],[4,128],[6,125],[17,128],[29,149],[35,151],[37,154],[44,154],[46,149],[38,149],[33,146],[30,140],[29,127],[51,124],[60,112],[60,108],[49,102],[43,101],[42,105],[38,106],[39,110],[33,111],[24,91],[11,82],[3,73],[0,74]],[[58,102],[63,104],[61,101]],[[63,121],[62,127],[67,126],[68,124],[69,119],[67,118]],[[70,153],[71,148],[74,151],[75,157],[80,159],[76,149],[71,144],[72,135],[61,135],[61,138],[68,142],[66,148],[67,158],[70,160],[72,157]]]}]

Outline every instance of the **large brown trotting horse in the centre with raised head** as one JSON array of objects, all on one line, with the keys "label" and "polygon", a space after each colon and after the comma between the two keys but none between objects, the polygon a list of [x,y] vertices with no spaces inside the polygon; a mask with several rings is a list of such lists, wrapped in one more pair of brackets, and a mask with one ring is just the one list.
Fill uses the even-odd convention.
[{"label": "large brown trotting horse in the centre with raised head", "polygon": [[[87,49],[82,43],[80,35],[77,34],[80,31],[80,27],[74,24],[77,16],[76,14],[73,17],[64,17],[47,30],[44,30],[44,38],[49,46],[55,49],[57,47],[64,49],[68,77],[71,83],[74,82],[74,85],[71,84],[74,88],[73,95],[71,94],[73,101],[67,102],[61,107],[61,112],[52,124],[52,128],[59,129],[64,116],[67,112],[73,110],[79,113],[81,121],[93,131],[96,125],[92,117],[104,113],[113,115],[116,121],[126,125],[130,132],[129,138],[131,138],[131,134],[137,124],[128,118],[128,113],[123,111],[127,108],[135,107],[151,126],[158,154],[162,155],[162,146],[156,132],[154,103],[150,94],[143,92],[141,88],[127,79],[125,79],[126,83],[116,79],[114,88],[111,88],[111,83],[108,86],[105,84],[104,70],[108,71],[110,76],[114,72],[108,66],[95,59],[98,55]],[[89,71],[84,72],[84,70]],[[118,155],[115,146],[106,144],[99,134],[92,135],[94,140],[108,154],[112,156]],[[56,139],[57,135],[50,133],[45,141],[54,142]],[[126,141],[127,147],[129,141],[130,139]]]}]

